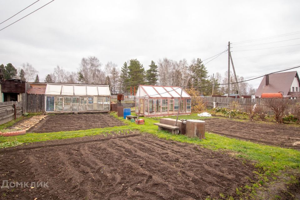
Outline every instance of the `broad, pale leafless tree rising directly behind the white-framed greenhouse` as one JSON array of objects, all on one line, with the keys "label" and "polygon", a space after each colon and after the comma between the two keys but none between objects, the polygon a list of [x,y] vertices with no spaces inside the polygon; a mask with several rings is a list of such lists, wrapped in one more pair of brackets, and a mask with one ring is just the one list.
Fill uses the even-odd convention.
[{"label": "broad, pale leafless tree rising directly behind the white-framed greenhouse", "polygon": [[95,56],[82,58],[79,72],[83,75],[85,83],[103,84],[105,74],[101,70],[101,63]]}]

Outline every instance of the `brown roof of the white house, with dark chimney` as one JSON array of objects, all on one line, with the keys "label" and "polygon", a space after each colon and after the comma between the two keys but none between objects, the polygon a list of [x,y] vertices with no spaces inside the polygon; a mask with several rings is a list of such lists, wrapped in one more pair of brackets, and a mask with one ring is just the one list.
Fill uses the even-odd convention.
[{"label": "brown roof of the white house, with dark chimney", "polygon": [[266,76],[264,76],[255,96],[261,97],[262,93],[283,92],[283,96],[286,97],[295,76],[297,76],[299,81],[297,71],[269,74],[269,85],[266,85]]}]

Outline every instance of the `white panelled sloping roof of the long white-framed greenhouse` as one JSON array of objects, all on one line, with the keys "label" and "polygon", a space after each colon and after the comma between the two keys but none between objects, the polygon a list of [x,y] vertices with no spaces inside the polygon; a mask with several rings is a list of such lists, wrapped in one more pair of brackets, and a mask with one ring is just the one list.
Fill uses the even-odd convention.
[{"label": "white panelled sloping roof of the long white-framed greenhouse", "polygon": [[73,96],[110,96],[110,90],[108,85],[47,83],[45,94]]}]

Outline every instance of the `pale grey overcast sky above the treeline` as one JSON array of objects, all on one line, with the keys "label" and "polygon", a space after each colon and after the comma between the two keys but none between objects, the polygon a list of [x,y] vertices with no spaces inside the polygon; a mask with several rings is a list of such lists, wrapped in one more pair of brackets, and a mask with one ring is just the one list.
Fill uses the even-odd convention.
[{"label": "pale grey overcast sky above the treeline", "polygon": [[[35,0],[0,0],[4,21]],[[0,25],[0,29],[50,2],[40,0]],[[0,31],[0,64],[31,63],[40,80],[59,65],[77,71],[83,57],[96,56],[121,68],[137,58],[145,67],[160,58],[202,60],[232,42],[236,73],[244,78],[300,64],[300,1],[82,1],[55,0]],[[296,39],[297,38],[297,39]],[[289,40],[293,39],[293,40]],[[283,42],[277,42],[288,40]],[[261,44],[273,42],[269,44]],[[260,45],[253,45],[260,44]],[[253,45],[247,47],[238,47]],[[289,47],[280,47],[294,45]],[[235,47],[235,48],[234,48]],[[279,47],[252,51],[238,51]],[[228,54],[206,64],[224,75]],[[209,61],[209,60],[207,60]],[[205,63],[205,62],[204,62]],[[299,68],[297,69],[300,73]],[[255,88],[261,79],[249,82]]]}]

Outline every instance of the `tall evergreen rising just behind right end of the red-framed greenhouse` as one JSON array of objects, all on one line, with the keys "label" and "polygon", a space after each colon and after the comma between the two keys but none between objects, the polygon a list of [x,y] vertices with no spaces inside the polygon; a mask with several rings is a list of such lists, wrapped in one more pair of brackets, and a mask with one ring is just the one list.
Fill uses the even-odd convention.
[{"label": "tall evergreen rising just behind right end of the red-framed greenhouse", "polygon": [[203,93],[203,89],[201,86],[206,86],[207,83],[209,83],[209,80],[207,79],[207,69],[202,63],[200,58],[197,58],[197,62],[190,65],[190,71],[191,71],[191,78],[193,82],[194,87],[199,87],[198,91],[200,94]]}]

